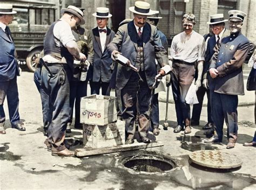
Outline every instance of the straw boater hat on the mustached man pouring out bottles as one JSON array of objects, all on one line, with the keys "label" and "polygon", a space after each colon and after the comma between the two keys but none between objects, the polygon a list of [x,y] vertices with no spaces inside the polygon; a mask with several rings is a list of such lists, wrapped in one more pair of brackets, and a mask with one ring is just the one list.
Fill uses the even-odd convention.
[{"label": "straw boater hat on the mustached man pouring out bottles", "polygon": [[150,4],[144,1],[135,2],[134,6],[131,6],[129,10],[138,15],[153,15],[155,12],[150,10]]}]

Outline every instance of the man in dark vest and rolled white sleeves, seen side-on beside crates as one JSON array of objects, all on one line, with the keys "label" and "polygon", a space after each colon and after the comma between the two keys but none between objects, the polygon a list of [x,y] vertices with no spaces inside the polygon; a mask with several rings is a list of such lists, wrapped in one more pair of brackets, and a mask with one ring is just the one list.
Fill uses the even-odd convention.
[{"label": "man in dark vest and rolled white sleeves, seen side-on beside crates", "polygon": [[71,29],[84,24],[84,13],[69,5],[61,10],[62,17],[54,22],[44,38],[42,88],[49,95],[48,139],[46,146],[52,156],[73,156],[74,152],[64,145],[66,126],[70,113],[70,80],[73,76],[74,58],[84,62],[86,57],[79,53]]}]

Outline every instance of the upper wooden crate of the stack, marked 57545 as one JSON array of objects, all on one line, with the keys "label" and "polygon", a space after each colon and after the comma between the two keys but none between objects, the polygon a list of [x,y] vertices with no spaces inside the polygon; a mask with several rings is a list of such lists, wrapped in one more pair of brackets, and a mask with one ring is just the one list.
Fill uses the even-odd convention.
[{"label": "upper wooden crate of the stack, marked 57545", "polygon": [[117,121],[116,97],[91,95],[81,98],[80,123],[106,125]]}]

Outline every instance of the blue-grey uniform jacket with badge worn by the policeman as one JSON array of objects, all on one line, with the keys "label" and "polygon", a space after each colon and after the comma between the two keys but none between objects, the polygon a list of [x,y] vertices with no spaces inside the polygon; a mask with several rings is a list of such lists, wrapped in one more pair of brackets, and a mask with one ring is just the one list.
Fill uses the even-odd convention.
[{"label": "blue-grey uniform jacket with badge worn by the policeman", "polygon": [[213,79],[214,92],[230,95],[244,95],[242,64],[250,50],[250,41],[241,32],[223,38],[220,49],[214,53],[210,68],[216,68]]}]

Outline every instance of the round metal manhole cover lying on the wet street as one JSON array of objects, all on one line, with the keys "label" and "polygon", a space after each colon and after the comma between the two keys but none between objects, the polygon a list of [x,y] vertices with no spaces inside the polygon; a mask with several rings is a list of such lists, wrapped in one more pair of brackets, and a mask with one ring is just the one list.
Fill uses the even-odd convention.
[{"label": "round metal manhole cover lying on the wet street", "polygon": [[200,166],[229,169],[242,165],[242,161],[235,155],[218,150],[200,150],[190,154],[190,159],[193,163]]}]

